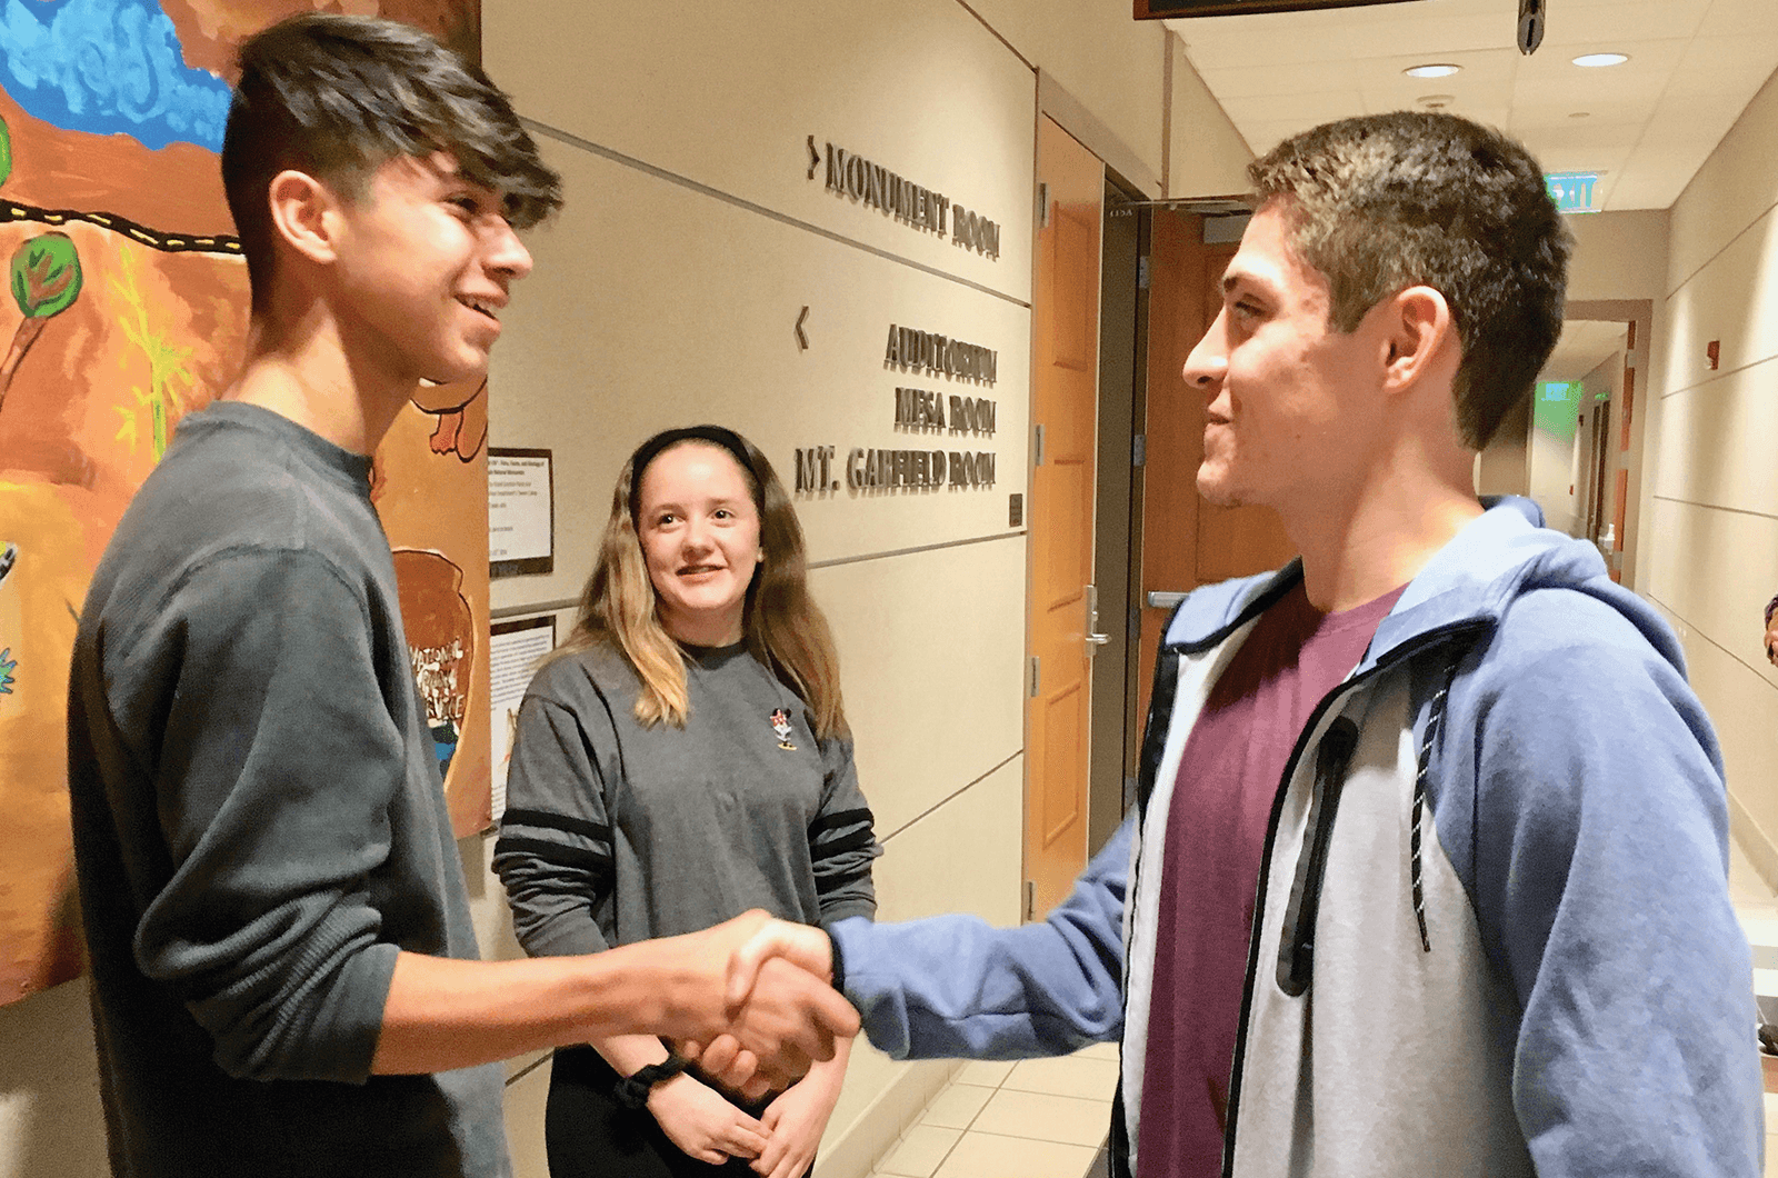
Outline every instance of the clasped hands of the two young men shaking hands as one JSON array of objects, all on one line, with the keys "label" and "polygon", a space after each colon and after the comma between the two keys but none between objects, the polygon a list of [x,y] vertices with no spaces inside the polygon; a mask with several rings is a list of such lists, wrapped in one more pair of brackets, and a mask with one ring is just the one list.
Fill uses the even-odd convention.
[{"label": "clasped hands of the two young men shaking hands", "polygon": [[[820,956],[807,950],[770,954],[752,963],[745,988],[733,984],[731,961],[738,950],[775,925],[802,929],[752,911],[704,932],[672,938],[690,973],[674,1002],[677,1034],[672,1037],[686,1045],[683,1053],[692,1059],[699,1059],[701,1043],[733,1041],[733,1050],[725,1048],[727,1057],[717,1066],[706,1059],[699,1064],[722,1084],[750,1096],[795,1082],[811,1061],[834,1057],[836,1037],[850,1039],[859,1032],[857,1011],[829,980],[832,956],[827,934],[818,929],[804,931],[820,938]],[[763,943],[775,940],[766,934]],[[750,1080],[736,1066],[752,1062],[741,1059],[743,1053],[757,1061]]]}]

